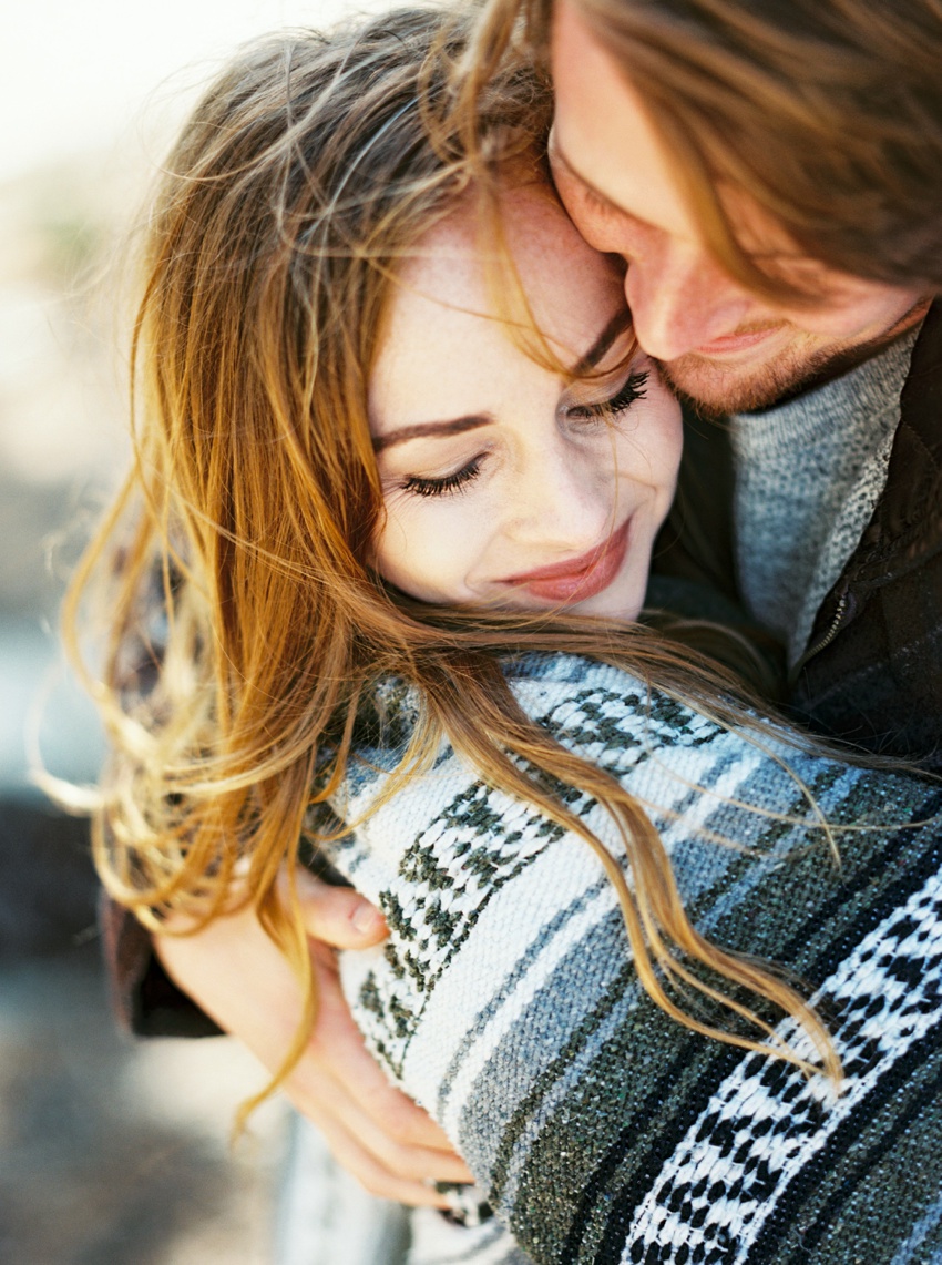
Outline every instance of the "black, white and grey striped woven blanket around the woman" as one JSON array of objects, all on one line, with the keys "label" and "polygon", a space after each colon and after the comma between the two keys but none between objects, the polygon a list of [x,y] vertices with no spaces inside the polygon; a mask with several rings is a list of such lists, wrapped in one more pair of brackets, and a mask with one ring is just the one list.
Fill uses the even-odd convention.
[{"label": "black, white and grey striped woven blanket around the woman", "polygon": [[[391,930],[341,968],[368,1045],[494,1212],[450,1226],[424,1211],[410,1260],[942,1261],[938,786],[752,741],[578,658],[506,672],[531,717],[642,802],[697,927],[804,982],[845,1083],[669,1018],[590,849],[443,744],[330,854]],[[395,739],[359,749],[333,805],[350,822],[415,721],[405,688],[381,701]],[[594,802],[569,807],[622,853]]]}]

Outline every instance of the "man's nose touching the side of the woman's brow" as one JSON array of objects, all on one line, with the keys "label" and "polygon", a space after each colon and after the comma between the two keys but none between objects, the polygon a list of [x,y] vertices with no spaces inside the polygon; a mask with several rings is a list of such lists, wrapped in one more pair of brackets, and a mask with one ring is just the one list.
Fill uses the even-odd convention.
[{"label": "man's nose touching the side of the woman's brow", "polygon": [[665,362],[732,334],[754,307],[704,249],[676,240],[630,261],[625,293],[639,343]]}]

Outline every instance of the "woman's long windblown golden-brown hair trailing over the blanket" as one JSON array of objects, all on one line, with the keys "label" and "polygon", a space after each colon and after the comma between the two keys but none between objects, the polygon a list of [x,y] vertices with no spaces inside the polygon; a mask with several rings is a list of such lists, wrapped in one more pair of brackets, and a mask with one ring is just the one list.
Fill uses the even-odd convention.
[{"label": "woman's long windblown golden-brown hair trailing over the blanket", "polygon": [[[769,1001],[837,1075],[799,993],[694,930],[642,807],[523,715],[501,658],[594,655],[749,725],[732,678],[650,627],[435,608],[370,567],[383,501],[368,381],[400,262],[472,178],[443,121],[467,29],[403,9],[253,44],[167,161],[134,326],[135,459],[66,608],[73,645],[90,639],[102,659],[87,674],[113,748],[99,870],[156,930],[252,902],[307,989],[310,1021],[306,940],[277,880],[310,842],[311,802],[343,782],[372,687],[392,674],[416,688],[421,719],[389,793],[446,736],[492,784],[594,849],[639,977],[665,1011],[807,1069],[775,1039]],[[479,119],[498,175],[508,156],[539,167],[550,109],[527,68],[491,81]],[[559,787],[608,810],[631,883]],[[690,987],[716,1003],[713,1018],[680,1003]]]}]

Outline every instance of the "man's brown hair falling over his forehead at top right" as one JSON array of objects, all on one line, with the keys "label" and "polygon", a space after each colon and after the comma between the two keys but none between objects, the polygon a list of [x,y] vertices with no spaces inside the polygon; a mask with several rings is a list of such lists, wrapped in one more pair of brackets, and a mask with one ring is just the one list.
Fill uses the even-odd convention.
[{"label": "man's brown hair falling over his forehead at top right", "polygon": [[[475,49],[545,63],[553,3],[489,0]],[[800,254],[942,290],[939,0],[570,3],[644,97],[732,276],[789,290],[736,240],[723,190],[746,194]]]}]

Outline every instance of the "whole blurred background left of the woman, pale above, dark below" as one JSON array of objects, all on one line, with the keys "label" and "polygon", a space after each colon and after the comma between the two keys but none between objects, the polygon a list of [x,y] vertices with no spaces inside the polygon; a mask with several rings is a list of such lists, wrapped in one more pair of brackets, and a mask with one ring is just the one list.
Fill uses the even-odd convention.
[{"label": "whole blurred background left of the woman, pale above, dark below", "polygon": [[[0,1260],[264,1265],[286,1117],[234,1042],[134,1041],[99,966],[87,827],[29,779],[94,781],[58,605],[126,454],[120,259],[199,86],[238,43],[389,0],[30,0],[0,11]],[[343,1265],[343,1262],[338,1262]]]}]

